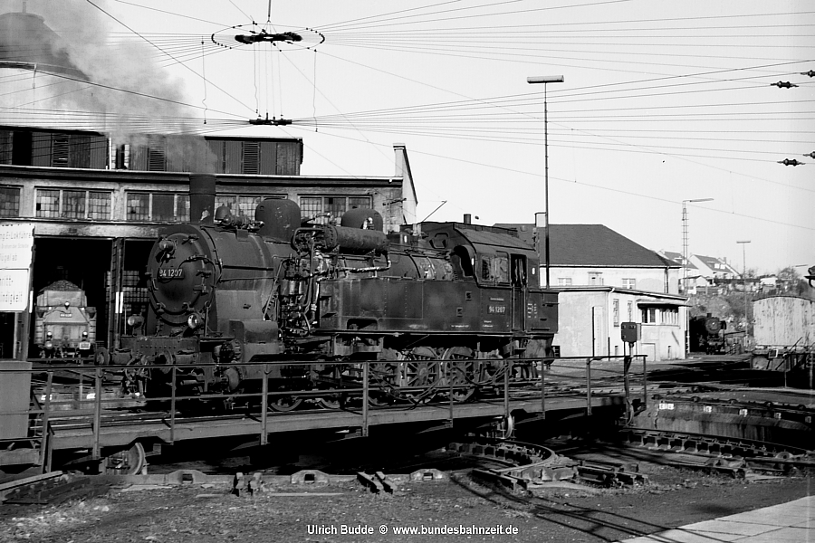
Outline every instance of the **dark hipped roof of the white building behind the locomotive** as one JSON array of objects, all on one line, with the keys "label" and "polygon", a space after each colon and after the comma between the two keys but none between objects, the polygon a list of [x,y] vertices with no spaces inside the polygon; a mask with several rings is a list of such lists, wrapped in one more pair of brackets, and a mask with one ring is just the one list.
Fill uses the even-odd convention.
[{"label": "dark hipped roof of the white building behind the locomotive", "polygon": [[[533,224],[495,224],[516,228],[521,239],[532,243]],[[541,252],[543,252],[541,243]],[[553,266],[679,267],[602,224],[551,224],[549,253]]]}]

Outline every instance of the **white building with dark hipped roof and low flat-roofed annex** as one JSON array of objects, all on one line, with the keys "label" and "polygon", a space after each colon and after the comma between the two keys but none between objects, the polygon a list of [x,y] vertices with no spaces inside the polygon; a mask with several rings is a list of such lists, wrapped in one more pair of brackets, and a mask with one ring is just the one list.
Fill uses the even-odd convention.
[{"label": "white building with dark hipped roof and low flat-roofed annex", "polygon": [[[516,228],[536,243],[545,281],[543,229],[532,224],[496,224]],[[686,297],[678,292],[681,266],[602,224],[551,224],[551,288],[559,291],[558,333],[561,357],[621,356],[628,346],[622,322],[641,323],[635,354],[648,361],[684,358]]]}]

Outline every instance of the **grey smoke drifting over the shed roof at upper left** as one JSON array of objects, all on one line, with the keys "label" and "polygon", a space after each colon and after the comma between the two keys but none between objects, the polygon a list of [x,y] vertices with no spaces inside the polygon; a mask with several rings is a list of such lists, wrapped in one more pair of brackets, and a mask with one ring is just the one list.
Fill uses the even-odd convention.
[{"label": "grey smoke drifting over the shed roof at upper left", "polygon": [[[114,14],[113,3],[94,0],[94,4]],[[73,117],[76,120],[72,128],[106,133],[116,144],[144,143],[145,133],[187,133],[183,150],[178,152],[195,157],[191,163],[208,162],[201,158],[208,154],[204,138],[188,134],[190,125],[177,120],[200,114],[195,108],[182,105],[190,101],[184,92],[184,81],[158,64],[158,59],[167,57],[155,46],[139,39],[94,5],[80,0],[0,0],[0,14],[14,12],[42,16],[44,24],[55,33],[41,38],[47,43],[30,42],[25,47],[31,52],[50,49],[56,58],[67,57],[71,67],[82,71],[89,82],[33,75],[31,92],[26,93],[25,89],[14,92],[0,106],[56,110],[55,119],[65,118],[63,127]],[[122,34],[128,38],[120,39]],[[91,115],[80,121],[74,111]],[[42,126],[42,121],[37,124]],[[56,123],[52,128],[60,126]]]}]

